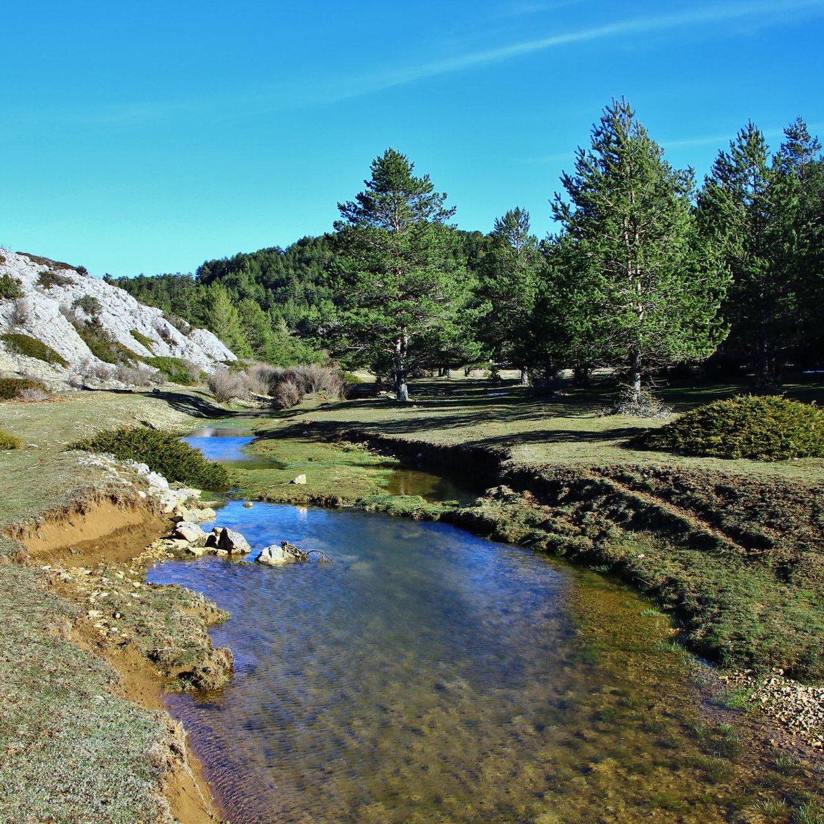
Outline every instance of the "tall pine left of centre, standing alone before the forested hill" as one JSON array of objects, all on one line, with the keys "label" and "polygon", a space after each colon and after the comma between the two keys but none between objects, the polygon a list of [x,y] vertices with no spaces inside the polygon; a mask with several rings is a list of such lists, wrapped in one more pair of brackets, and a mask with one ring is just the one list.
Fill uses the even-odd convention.
[{"label": "tall pine left of centre, standing alone before the forested hill", "polygon": [[461,302],[458,239],[447,224],[455,208],[395,149],[371,171],[366,189],[338,204],[339,346],[378,371],[390,361],[398,400],[408,400],[415,339],[447,328]]}]

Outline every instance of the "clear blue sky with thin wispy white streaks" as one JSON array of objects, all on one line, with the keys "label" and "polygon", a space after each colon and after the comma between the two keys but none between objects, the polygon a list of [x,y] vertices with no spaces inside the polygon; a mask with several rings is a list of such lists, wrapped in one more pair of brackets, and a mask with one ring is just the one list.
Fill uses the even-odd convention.
[{"label": "clear blue sky with thin wispy white streaks", "polygon": [[824,0],[9,0],[0,245],[92,274],[193,271],[331,229],[392,146],[461,228],[552,228],[625,96],[703,178],[752,119],[824,135]]}]

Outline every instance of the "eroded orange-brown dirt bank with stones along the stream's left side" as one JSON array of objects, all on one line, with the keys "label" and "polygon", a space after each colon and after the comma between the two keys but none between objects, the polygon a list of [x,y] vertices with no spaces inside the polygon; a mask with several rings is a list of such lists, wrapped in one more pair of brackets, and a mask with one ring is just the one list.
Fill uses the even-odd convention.
[{"label": "eroded orange-brown dirt bank with stones along the stream's left side", "polygon": [[[53,631],[108,662],[115,695],[157,714],[162,740],[147,757],[162,814],[180,824],[214,824],[222,821],[218,807],[184,729],[166,714],[163,694],[171,678],[208,657],[208,625],[223,616],[196,593],[145,582],[147,567],[168,555],[157,539],[169,531],[169,517],[149,501],[101,495],[7,534],[19,542],[13,561],[39,568],[42,585],[73,606],[72,617],[55,621]],[[165,644],[184,651],[185,663]]]}]

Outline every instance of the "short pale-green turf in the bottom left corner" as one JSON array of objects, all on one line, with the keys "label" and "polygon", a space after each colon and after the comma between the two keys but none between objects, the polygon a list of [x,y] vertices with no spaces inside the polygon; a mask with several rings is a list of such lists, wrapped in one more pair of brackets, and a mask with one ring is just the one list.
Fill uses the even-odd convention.
[{"label": "short pale-green turf in the bottom left corner", "polygon": [[0,820],[156,821],[162,719],[112,695],[105,662],[59,637],[74,610],[40,575],[0,564]]}]

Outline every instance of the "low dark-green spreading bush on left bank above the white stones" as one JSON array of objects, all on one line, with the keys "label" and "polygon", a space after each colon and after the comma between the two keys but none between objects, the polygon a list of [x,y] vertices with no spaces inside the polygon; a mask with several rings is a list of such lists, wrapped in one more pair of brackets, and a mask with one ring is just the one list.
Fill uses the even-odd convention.
[{"label": "low dark-green spreading bush on left bank above the white stones", "polygon": [[204,456],[175,433],[162,429],[123,427],[101,432],[68,446],[87,452],[111,452],[121,461],[139,461],[164,475],[167,480],[197,486],[200,489],[226,489],[229,475],[226,469]]}]

